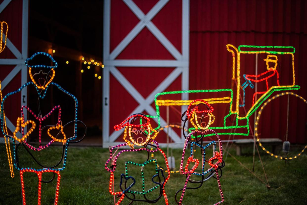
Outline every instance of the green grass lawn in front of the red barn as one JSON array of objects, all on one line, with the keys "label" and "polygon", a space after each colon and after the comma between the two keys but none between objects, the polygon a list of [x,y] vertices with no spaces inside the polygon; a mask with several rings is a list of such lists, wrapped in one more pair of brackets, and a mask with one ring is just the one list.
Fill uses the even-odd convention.
[{"label": "green grass lawn in front of the red barn", "polygon": [[[166,149],[164,149],[166,150]],[[61,152],[60,147],[52,147],[42,152],[41,161],[56,162],[58,155],[52,157],[52,153],[58,155]],[[196,150],[196,153],[199,152]],[[207,156],[212,151],[206,150]],[[0,144],[0,204],[21,204],[21,187],[19,172],[14,170],[15,178],[10,178],[5,145]],[[231,150],[234,154],[234,150]],[[245,156],[237,156],[237,158],[248,168],[252,168],[252,155],[250,149],[245,149]],[[182,150],[175,149],[173,155],[176,159],[176,166],[179,166]],[[301,157],[291,160],[287,163],[277,160],[264,152],[261,152],[262,160],[265,166],[266,174],[269,179],[270,189],[259,179],[255,178],[250,172],[239,165],[230,156],[225,161],[223,168],[223,176],[221,177],[221,185],[225,196],[223,204],[306,204],[307,203],[307,156],[303,154]],[[32,160],[27,157],[27,153],[21,152],[20,161],[28,162],[29,166],[33,164]],[[104,168],[104,164],[108,158],[108,150],[102,148],[68,148],[67,168],[61,171],[60,196],[59,204],[114,204],[113,196],[108,192],[109,172]],[[211,155],[212,156],[212,155]],[[117,161],[118,167],[115,171],[115,190],[119,190],[119,175],[124,173],[124,161],[134,161],[136,163],[144,162],[146,153],[124,153]],[[224,152],[224,159],[226,153]],[[158,153],[158,163],[163,167],[163,159]],[[128,160],[127,160],[128,159]],[[153,159],[150,157],[150,159]],[[150,166],[146,165],[144,173],[149,173]],[[165,166],[164,166],[165,167]],[[152,167],[151,167],[152,168]],[[134,190],[142,189],[140,185],[140,167],[128,166],[129,175],[137,176],[137,184]],[[255,173],[265,180],[261,164],[256,158]],[[43,175],[43,179],[48,180],[52,174]],[[146,175],[147,176],[147,175]],[[148,176],[149,177],[149,176]],[[150,178],[146,177],[149,189],[152,185]],[[25,190],[27,204],[37,204],[37,177],[35,173],[25,173]],[[194,177],[194,179],[196,179]],[[52,204],[55,193],[55,183],[42,184],[42,204]],[[166,184],[165,190],[169,198],[169,204],[176,204],[174,195],[177,190],[181,189],[185,183],[185,176],[179,173],[171,174]],[[191,185],[190,185],[191,186]],[[150,193],[149,198],[156,196],[157,192]],[[140,196],[138,196],[140,197]],[[187,190],[184,197],[184,204],[214,204],[220,201],[219,190],[216,179],[211,178],[206,181],[203,186],[197,190]],[[129,200],[124,199],[122,204],[128,204]],[[133,204],[144,204],[142,202]],[[157,204],[164,204],[163,197]]]}]

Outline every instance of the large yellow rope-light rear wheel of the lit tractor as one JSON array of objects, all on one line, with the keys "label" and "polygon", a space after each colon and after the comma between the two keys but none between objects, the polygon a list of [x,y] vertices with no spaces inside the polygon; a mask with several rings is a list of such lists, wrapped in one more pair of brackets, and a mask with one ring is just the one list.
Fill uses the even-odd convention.
[{"label": "large yellow rope-light rear wheel of the lit tractor", "polygon": [[270,101],[272,101],[272,100],[274,100],[274,99],[276,99],[276,98],[278,98],[278,97],[284,96],[284,95],[292,95],[292,96],[298,97],[299,99],[301,99],[302,101],[304,101],[304,102],[307,104],[307,101],[306,101],[303,97],[301,97],[301,96],[299,96],[299,95],[297,95],[297,94],[295,94],[295,93],[292,93],[292,92],[279,93],[279,94],[277,94],[277,95],[271,97],[266,103],[264,103],[264,104],[262,105],[262,107],[260,108],[260,110],[259,110],[259,112],[258,112],[258,115],[257,115],[257,118],[256,118],[256,122],[255,122],[255,136],[256,136],[256,138],[257,138],[257,142],[258,142],[259,146],[262,148],[262,150],[264,150],[264,151],[265,151],[267,154],[269,154],[270,156],[273,156],[273,157],[275,157],[275,158],[279,158],[279,159],[281,159],[281,160],[292,160],[292,159],[297,158],[298,156],[301,156],[301,154],[302,154],[302,153],[305,151],[305,149],[307,148],[307,145],[306,145],[306,146],[301,150],[301,152],[299,152],[297,155],[295,155],[295,156],[293,156],[293,157],[283,157],[283,156],[275,155],[275,154],[273,154],[272,152],[268,151],[268,150],[262,145],[262,143],[261,143],[261,141],[260,141],[260,138],[259,138],[259,134],[258,134],[259,120],[260,120],[260,116],[261,116],[261,113],[262,113],[263,109],[266,107],[266,105],[267,105]]}]

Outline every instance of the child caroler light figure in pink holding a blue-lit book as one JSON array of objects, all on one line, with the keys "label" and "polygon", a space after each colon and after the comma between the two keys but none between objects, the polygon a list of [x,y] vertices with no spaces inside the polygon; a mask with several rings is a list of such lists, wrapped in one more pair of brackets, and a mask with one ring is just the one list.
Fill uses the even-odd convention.
[{"label": "child caroler light figure in pink holding a blue-lit book", "polygon": [[[199,103],[197,103],[197,105],[191,110],[190,109],[191,105],[196,104],[196,102],[199,102]],[[205,107],[207,107],[207,110],[199,111],[200,104],[205,105]],[[183,197],[185,195],[186,189],[198,189],[198,188],[200,188],[203,185],[203,182],[208,180],[209,178],[211,178],[214,174],[216,175],[215,178],[217,179],[218,187],[219,187],[219,190],[220,190],[220,196],[221,196],[221,201],[219,201],[219,202],[217,202],[215,204],[220,204],[220,203],[223,203],[223,201],[224,201],[224,195],[223,195],[223,191],[222,191],[222,188],[221,188],[220,177],[222,176],[221,168],[223,168],[225,166],[225,163],[223,161],[223,148],[222,148],[222,142],[220,140],[220,136],[215,131],[213,131],[211,129],[208,129],[208,127],[209,127],[208,125],[211,125],[214,122],[214,120],[211,121],[211,119],[212,119],[211,117],[209,118],[208,124],[206,126],[201,126],[201,124],[199,124],[197,122],[197,120],[196,120],[197,118],[199,118],[199,117],[197,117],[196,113],[198,113],[198,114],[207,113],[209,116],[213,116],[214,117],[212,112],[213,112],[213,107],[210,104],[208,104],[208,102],[206,102],[206,101],[204,101],[202,99],[197,99],[197,100],[192,101],[190,103],[190,105],[188,106],[187,111],[182,114],[182,117],[183,117],[184,114],[186,114],[186,117],[185,117],[185,120],[184,120],[184,126],[183,126],[183,134],[184,134],[184,136],[185,136],[185,129],[184,129],[185,123],[192,116],[195,116],[194,118],[192,117],[191,119],[195,119],[196,122],[193,122],[192,120],[190,120],[191,124],[195,128],[197,127],[198,129],[200,129],[202,131],[195,130],[193,132],[190,132],[188,134],[188,136],[185,136],[186,139],[185,139],[185,145],[184,145],[183,152],[182,152],[179,172],[182,175],[186,175],[187,179],[185,181],[184,187],[182,189],[178,190],[176,192],[176,194],[175,194],[175,200],[176,200],[177,204],[182,204],[182,200],[183,200]],[[205,118],[205,116],[202,115],[201,120],[203,120],[204,118]],[[215,118],[213,118],[213,119],[215,119]],[[204,136],[206,136],[206,134],[210,133],[210,132],[217,137],[218,144],[219,144],[219,152],[216,151],[216,141],[215,140],[213,140],[212,142],[208,143],[205,146],[202,145],[203,144]],[[195,136],[193,136],[194,134],[195,134]],[[200,136],[200,138],[197,138],[197,135]],[[194,141],[194,139],[196,139],[196,140]],[[184,166],[183,162],[184,162],[184,156],[185,156],[185,151],[186,151],[188,142],[191,142],[191,152],[190,152],[190,156],[188,157],[187,164]],[[208,161],[206,161],[205,160],[206,148],[208,148],[211,145],[213,145],[213,156]],[[194,157],[194,146],[195,147],[199,147],[200,150],[201,150],[201,155],[202,155],[202,160],[201,160],[201,162],[202,162],[202,169],[201,169],[201,173],[195,171],[197,169],[197,167],[199,166],[199,164],[200,164],[200,160],[196,159],[196,158],[193,158]],[[214,163],[213,162],[214,160],[217,160],[217,161]],[[205,163],[206,162],[210,165],[210,168],[205,171]],[[195,163],[195,164],[193,165],[192,168],[189,169],[189,164],[190,163]],[[218,173],[219,170],[221,172],[221,175],[219,175],[219,173]],[[207,174],[208,174],[208,176],[205,178],[205,176]],[[201,176],[201,180],[198,180],[198,181],[192,180],[192,179],[190,179],[191,175]],[[190,183],[199,183],[199,186],[198,187],[187,187],[188,182],[190,182]],[[180,199],[178,201],[177,200],[177,195],[180,192],[181,192],[181,196],[180,196]]]}]

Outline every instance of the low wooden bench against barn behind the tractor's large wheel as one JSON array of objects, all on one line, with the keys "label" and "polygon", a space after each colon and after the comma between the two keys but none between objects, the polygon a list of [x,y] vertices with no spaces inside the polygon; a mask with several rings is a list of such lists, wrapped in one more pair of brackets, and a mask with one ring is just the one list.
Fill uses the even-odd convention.
[{"label": "low wooden bench against barn behind the tractor's large wheel", "polygon": [[[242,150],[242,145],[247,145],[247,144],[253,144],[254,143],[254,139],[242,139],[242,140],[234,140],[233,141],[234,144],[236,145],[236,154],[238,156],[241,155],[241,150]],[[260,142],[262,144],[268,144],[272,146],[272,153],[275,153],[275,148],[277,145],[282,144],[282,140],[279,138],[264,138],[264,139],[260,139]],[[258,142],[256,141],[258,146]]]}]

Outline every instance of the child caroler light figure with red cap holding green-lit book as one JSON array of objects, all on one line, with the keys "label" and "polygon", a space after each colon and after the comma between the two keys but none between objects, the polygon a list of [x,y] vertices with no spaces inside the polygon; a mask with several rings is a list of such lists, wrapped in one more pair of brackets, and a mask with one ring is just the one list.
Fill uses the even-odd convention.
[{"label": "child caroler light figure with red cap holding green-lit book", "polygon": [[[140,124],[133,124],[134,121],[136,119],[140,118]],[[142,124],[143,120],[146,121],[146,123]],[[110,157],[107,160],[106,164],[105,164],[105,168],[107,171],[110,172],[110,183],[109,183],[109,192],[111,195],[117,195],[117,197],[119,198],[119,200],[116,202],[116,205],[120,204],[122,202],[122,200],[124,198],[127,198],[129,200],[131,200],[130,204],[133,201],[142,201],[142,202],[147,202],[147,203],[156,203],[159,201],[159,199],[161,198],[161,196],[164,196],[165,199],[165,204],[169,204],[168,199],[167,199],[167,195],[165,193],[165,184],[167,183],[167,181],[169,180],[170,177],[170,170],[169,170],[169,164],[167,161],[167,157],[165,155],[165,153],[161,150],[161,148],[159,147],[159,144],[154,141],[153,139],[157,136],[158,131],[153,130],[151,125],[150,125],[150,119],[148,117],[146,117],[144,114],[135,114],[135,115],[131,115],[130,117],[128,117],[126,120],[124,120],[121,124],[115,125],[114,129],[115,130],[120,130],[121,128],[125,128],[125,132],[124,132],[124,140],[126,141],[126,143],[124,144],[119,144],[116,145],[114,147],[110,148]],[[138,130],[139,129],[139,130]],[[145,132],[145,130],[147,131],[147,133]],[[150,135],[150,133],[153,132],[154,135]],[[134,140],[134,135],[138,135],[141,134],[144,137],[146,137],[146,140],[142,141],[142,142],[138,142],[139,138],[142,137],[138,137],[137,140]],[[129,135],[129,139],[131,140],[131,142],[129,140],[126,139],[126,136]],[[123,147],[123,146],[130,146],[131,149],[124,149],[121,150],[116,156],[116,151],[118,150],[118,148]],[[138,145],[138,146],[143,146],[142,148],[134,148],[134,145]],[[152,148],[148,149],[147,147],[151,146]],[[153,150],[153,148],[155,148]],[[113,154],[112,151],[116,150]],[[140,151],[146,151],[147,152],[147,159],[145,160],[144,163],[142,164],[138,164],[132,161],[126,161],[125,162],[125,174],[121,174],[121,182],[120,182],[120,189],[121,191],[114,191],[112,187],[114,187],[114,171],[116,169],[116,161],[119,158],[119,156],[124,153],[124,152],[140,152]],[[165,160],[165,165],[166,165],[166,171],[167,172],[167,176],[165,177],[163,174],[163,170],[158,168],[158,164],[157,164],[157,159],[152,159],[149,160],[150,158],[150,153],[155,153],[159,151]],[[111,166],[110,168],[108,167],[108,164],[111,162]],[[152,182],[157,184],[154,187],[150,188],[149,190],[145,190],[145,178],[144,178],[144,170],[146,168],[146,165],[149,163],[154,163],[155,164],[155,175],[152,176]],[[142,191],[135,191],[132,190],[133,186],[136,182],[136,180],[132,177],[129,176],[128,174],[128,165],[135,165],[135,166],[140,166],[141,167],[141,175],[142,175]],[[161,180],[161,178],[163,178],[163,180]],[[123,182],[123,179],[125,182]],[[128,183],[130,184],[129,186],[127,186],[127,181],[129,179],[132,179],[133,183]],[[156,179],[158,179],[158,181],[156,181]],[[124,188],[122,187],[122,185],[124,184]],[[148,198],[146,198],[146,194],[152,192],[155,189],[159,189],[159,196],[156,199],[150,200]],[[129,195],[127,194],[129,193],[130,195],[133,196],[133,198],[129,197]],[[135,195],[142,195],[144,197],[144,199],[136,199]]]}]

